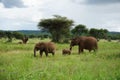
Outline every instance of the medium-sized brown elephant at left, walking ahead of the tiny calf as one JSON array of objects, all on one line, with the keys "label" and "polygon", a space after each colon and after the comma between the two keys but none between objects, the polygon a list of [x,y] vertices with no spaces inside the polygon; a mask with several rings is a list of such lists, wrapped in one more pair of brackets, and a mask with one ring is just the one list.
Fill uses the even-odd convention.
[{"label": "medium-sized brown elephant at left, walking ahead of the tiny calf", "polygon": [[53,42],[39,42],[35,44],[34,47],[34,57],[36,57],[36,51],[40,51],[40,56],[42,57],[43,52],[45,52],[46,57],[48,53],[52,53],[54,56],[55,54],[55,44]]}]

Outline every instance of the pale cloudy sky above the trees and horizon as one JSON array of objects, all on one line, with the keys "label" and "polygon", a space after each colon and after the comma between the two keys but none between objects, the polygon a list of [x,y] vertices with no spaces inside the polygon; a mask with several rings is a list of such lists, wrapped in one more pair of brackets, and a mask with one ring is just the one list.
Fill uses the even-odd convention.
[{"label": "pale cloudy sky above the trees and horizon", "polygon": [[120,32],[120,0],[0,0],[0,30],[38,30],[38,22],[53,15]]}]

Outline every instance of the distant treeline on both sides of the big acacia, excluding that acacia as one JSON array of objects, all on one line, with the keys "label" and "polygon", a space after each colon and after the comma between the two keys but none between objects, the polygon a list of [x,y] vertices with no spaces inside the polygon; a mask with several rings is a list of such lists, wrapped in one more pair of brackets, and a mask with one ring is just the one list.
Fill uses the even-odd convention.
[{"label": "distant treeline on both sides of the big acacia, excluding that acacia", "polygon": [[[82,27],[81,27],[82,26]],[[120,32],[109,32],[106,29],[88,29],[84,25],[77,25],[71,29],[69,38],[76,36],[94,36],[97,39],[119,40]],[[24,36],[29,38],[51,38],[51,34],[40,30],[23,30],[23,31],[0,31],[0,38],[7,38],[7,42],[11,42],[13,38],[21,40]]]}]

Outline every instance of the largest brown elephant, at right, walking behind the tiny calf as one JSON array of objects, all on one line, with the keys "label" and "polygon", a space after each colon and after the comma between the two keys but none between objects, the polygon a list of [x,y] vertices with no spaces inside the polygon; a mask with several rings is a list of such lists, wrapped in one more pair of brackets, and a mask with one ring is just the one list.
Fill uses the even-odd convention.
[{"label": "largest brown elephant, at right, walking behind the tiny calf", "polygon": [[80,37],[75,37],[71,40],[70,43],[70,50],[72,50],[72,47],[78,45],[78,53],[83,52],[84,49],[96,51],[98,49],[97,45],[97,39],[92,37],[92,36],[80,36]]}]

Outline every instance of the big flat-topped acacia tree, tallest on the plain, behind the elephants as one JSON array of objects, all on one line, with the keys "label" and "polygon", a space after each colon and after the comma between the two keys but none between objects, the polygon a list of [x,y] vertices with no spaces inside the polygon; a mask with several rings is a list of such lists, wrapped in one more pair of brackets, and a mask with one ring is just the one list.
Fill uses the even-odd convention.
[{"label": "big flat-topped acacia tree, tallest on the plain, behind the elephants", "polygon": [[72,25],[73,20],[54,15],[54,18],[41,19],[38,23],[38,28],[48,30],[52,35],[52,41],[61,42],[64,37],[70,34],[70,27]]}]

